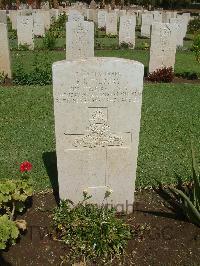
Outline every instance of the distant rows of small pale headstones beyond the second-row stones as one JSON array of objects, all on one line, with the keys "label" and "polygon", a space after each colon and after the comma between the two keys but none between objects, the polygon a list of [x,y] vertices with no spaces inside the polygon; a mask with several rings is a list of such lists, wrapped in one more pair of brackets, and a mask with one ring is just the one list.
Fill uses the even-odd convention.
[{"label": "distant rows of small pale headstones beyond the second-row stones", "polygon": [[[97,14],[97,23],[99,28],[106,28],[106,34],[108,35],[117,35],[117,25],[118,25],[118,16],[116,12],[108,13],[105,10],[96,9],[90,10]],[[135,26],[136,26],[136,18],[139,17],[139,14],[142,18],[142,27],[141,27],[141,35],[150,37],[150,29],[153,22],[162,22],[162,14],[158,11],[146,12],[141,14],[138,11],[137,16],[134,12],[130,11],[129,13],[126,10],[123,11],[120,17],[120,30],[119,30],[119,44],[127,43],[130,46],[134,47],[135,45]],[[3,11],[4,12],[4,11]],[[27,16],[27,12],[29,16]],[[2,12],[1,12],[2,13]],[[1,21],[1,13],[0,13],[0,22]],[[44,36],[45,30],[48,30],[50,27],[50,23],[52,18],[58,18],[59,11],[57,9],[52,9],[50,11],[44,10],[34,10],[27,11],[10,11],[9,16],[12,21],[13,29],[17,29],[18,36],[18,44],[27,44],[30,49],[34,49],[34,35],[36,36]],[[127,14],[127,15],[125,15]],[[163,13],[164,14],[164,13]],[[119,13],[120,15],[120,13]],[[163,18],[164,21],[175,23],[177,30],[177,45],[183,45],[183,38],[186,35],[187,24],[190,19],[190,14],[186,13],[182,16],[177,17],[176,12],[165,12],[165,16]],[[91,19],[89,16],[88,19],[91,19],[95,22],[95,16],[92,16]],[[6,21],[6,14],[4,13],[3,20]],[[68,12],[68,21],[84,21],[84,16],[77,10],[69,10]]]}]

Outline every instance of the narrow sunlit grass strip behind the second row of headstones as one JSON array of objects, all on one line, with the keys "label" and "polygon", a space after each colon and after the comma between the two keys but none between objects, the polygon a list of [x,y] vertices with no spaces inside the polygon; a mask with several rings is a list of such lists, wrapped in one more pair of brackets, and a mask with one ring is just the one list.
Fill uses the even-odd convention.
[{"label": "narrow sunlit grass strip behind the second row of headstones", "polygon": [[[64,60],[65,51],[13,51],[12,69],[15,72],[17,65],[22,65],[25,71],[31,71],[34,61],[40,64],[48,62],[49,68],[52,63]],[[95,56],[121,57],[139,61],[148,67],[149,51],[144,50],[97,50]],[[196,72],[200,77],[200,65],[195,60],[194,53],[191,51],[177,51],[175,73],[184,73],[186,71]]]}]

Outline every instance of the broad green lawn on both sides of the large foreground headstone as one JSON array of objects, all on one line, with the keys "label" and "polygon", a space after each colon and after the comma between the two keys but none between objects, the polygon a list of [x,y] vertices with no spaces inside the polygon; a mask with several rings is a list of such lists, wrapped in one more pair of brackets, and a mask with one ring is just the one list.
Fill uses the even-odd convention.
[{"label": "broad green lawn on both sides of the large foreground headstone", "polygon": [[[51,86],[0,88],[0,178],[15,178],[29,160],[36,189],[50,187],[44,161],[55,169]],[[144,87],[137,186],[186,180],[191,173],[190,130],[200,159],[200,85]],[[44,160],[45,159],[45,160]]]}]

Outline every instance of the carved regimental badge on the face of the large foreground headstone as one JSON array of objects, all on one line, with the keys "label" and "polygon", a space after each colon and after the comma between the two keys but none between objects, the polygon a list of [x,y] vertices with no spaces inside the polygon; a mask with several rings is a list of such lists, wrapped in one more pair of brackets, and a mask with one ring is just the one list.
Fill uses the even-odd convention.
[{"label": "carved regimental badge on the face of the large foreground headstone", "polygon": [[107,117],[100,108],[92,113],[86,135],[76,138],[73,143],[74,147],[87,148],[122,145],[122,137],[110,132]]}]

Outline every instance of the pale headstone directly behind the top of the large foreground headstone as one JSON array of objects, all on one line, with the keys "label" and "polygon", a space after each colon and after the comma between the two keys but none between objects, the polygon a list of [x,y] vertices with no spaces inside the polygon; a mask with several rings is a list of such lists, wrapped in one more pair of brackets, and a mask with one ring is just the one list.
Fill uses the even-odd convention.
[{"label": "pale headstone directly behind the top of the large foreground headstone", "polygon": [[66,23],[66,58],[77,59],[94,56],[94,23]]}]

